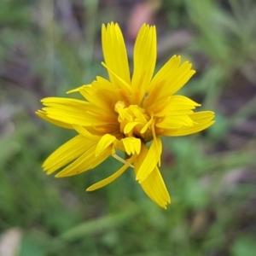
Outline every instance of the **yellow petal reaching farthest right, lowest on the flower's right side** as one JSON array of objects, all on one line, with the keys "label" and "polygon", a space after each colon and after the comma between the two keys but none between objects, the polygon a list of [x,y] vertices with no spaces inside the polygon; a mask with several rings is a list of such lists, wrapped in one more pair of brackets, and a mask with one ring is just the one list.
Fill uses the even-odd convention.
[{"label": "yellow petal reaching farthest right, lowest on the flower's right side", "polygon": [[175,129],[163,129],[160,132],[160,135],[164,136],[185,136],[189,134],[193,134],[195,132],[203,131],[207,129],[209,126],[214,124],[214,113],[211,111],[201,111],[198,113],[189,114],[189,117],[194,121],[193,126],[183,126],[177,130]]}]

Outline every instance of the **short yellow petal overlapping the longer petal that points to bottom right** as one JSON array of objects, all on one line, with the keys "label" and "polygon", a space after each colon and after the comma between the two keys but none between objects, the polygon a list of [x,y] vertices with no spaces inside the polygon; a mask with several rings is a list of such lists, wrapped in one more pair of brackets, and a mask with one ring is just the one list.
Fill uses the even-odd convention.
[{"label": "short yellow petal overlapping the longer petal that points to bottom right", "polygon": [[137,171],[136,179],[139,183],[142,183],[154,170],[162,153],[162,144],[159,137],[156,137],[156,139],[153,140],[149,150],[146,146],[142,146],[144,151],[148,151],[148,154],[145,156],[142,165]]}]

